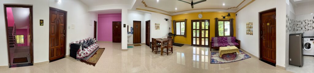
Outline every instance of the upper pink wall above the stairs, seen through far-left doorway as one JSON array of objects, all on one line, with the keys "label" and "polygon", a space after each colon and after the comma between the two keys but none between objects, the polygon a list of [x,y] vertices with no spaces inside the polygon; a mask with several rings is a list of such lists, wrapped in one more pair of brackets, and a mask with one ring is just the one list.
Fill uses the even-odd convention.
[{"label": "upper pink wall above the stairs, seen through far-left doorway", "polygon": [[7,7],[7,17],[8,17],[8,27],[13,27],[14,25],[14,17],[11,7]]}]

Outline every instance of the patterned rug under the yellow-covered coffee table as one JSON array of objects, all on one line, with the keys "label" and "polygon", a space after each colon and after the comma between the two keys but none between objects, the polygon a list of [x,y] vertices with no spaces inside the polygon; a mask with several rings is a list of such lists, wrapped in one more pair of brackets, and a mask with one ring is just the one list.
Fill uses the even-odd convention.
[{"label": "patterned rug under the yellow-covered coffee table", "polygon": [[222,55],[223,58],[219,57],[219,52],[211,52],[210,63],[211,64],[230,63],[251,58],[251,56],[245,54],[241,50],[239,50],[239,52],[240,53],[237,54],[238,56],[236,56],[236,54],[234,53],[231,53]]}]

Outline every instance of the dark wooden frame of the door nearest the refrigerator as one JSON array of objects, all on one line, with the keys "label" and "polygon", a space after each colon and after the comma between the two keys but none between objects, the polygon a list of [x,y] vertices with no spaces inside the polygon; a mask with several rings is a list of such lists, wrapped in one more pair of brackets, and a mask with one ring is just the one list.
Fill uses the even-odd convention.
[{"label": "dark wooden frame of the door nearest the refrigerator", "polygon": [[[263,55],[262,55],[262,53],[263,53],[263,52],[262,52],[262,48],[263,48],[263,47],[262,47],[263,39],[262,39],[262,37],[261,37],[261,36],[262,36],[262,35],[261,35],[261,34],[262,34],[262,33],[261,33],[261,31],[262,31],[262,23],[263,23],[263,22],[262,22],[262,14],[263,14],[263,13],[266,13],[266,12],[272,12],[272,11],[276,11],[276,8],[274,8],[274,9],[269,9],[269,10],[266,10],[266,11],[263,11],[263,12],[259,12],[259,15],[258,15],[258,16],[259,16],[259,17],[258,17],[258,19],[259,19],[259,20],[258,20],[258,21],[259,21],[259,25],[258,25],[258,27],[259,27],[259,28],[258,28],[258,33],[259,33],[259,34],[258,34],[258,38],[259,38],[259,42],[258,42],[258,43],[259,43],[259,44],[258,44],[258,45],[259,45],[259,50],[258,50],[258,51],[259,51],[259,58],[258,58],[258,59],[259,59],[259,60],[261,60],[261,59],[262,59],[262,56],[263,56]],[[276,19],[276,18],[275,18],[275,19]],[[276,21],[275,21],[275,22],[276,22]],[[277,28],[277,26],[276,26],[276,28]],[[275,31],[275,32],[276,32],[276,31]],[[276,36],[276,38],[277,38],[277,36]],[[275,47],[275,48],[276,48],[276,47]],[[276,50],[277,50],[277,48],[276,48]],[[275,54],[276,54],[276,52],[275,52]],[[275,56],[275,57],[276,57],[276,56]],[[275,59],[275,61],[276,61],[276,59]]]}]

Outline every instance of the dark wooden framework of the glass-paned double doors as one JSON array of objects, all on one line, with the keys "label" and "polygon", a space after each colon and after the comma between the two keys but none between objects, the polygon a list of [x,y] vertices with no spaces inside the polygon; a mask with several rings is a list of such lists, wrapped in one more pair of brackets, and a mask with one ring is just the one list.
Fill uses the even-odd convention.
[{"label": "dark wooden framework of the glass-paned double doors", "polygon": [[[201,43],[202,41],[199,41],[200,45],[196,45],[197,42],[195,42],[195,45],[193,45],[193,22],[194,21],[200,21],[199,22],[200,25],[199,25],[199,29],[198,29],[198,30],[200,30],[199,31],[200,32],[199,33],[199,40],[202,40],[202,38],[204,38],[204,40],[206,41],[206,38],[208,38],[208,42],[207,42],[208,46],[206,46],[206,44],[202,45],[202,43]],[[202,37],[202,35],[201,35],[202,30],[206,31],[206,29],[202,29],[202,21],[208,21],[208,37],[206,37],[206,34],[204,34],[205,35],[204,37]],[[195,25],[195,27],[196,27],[196,25]],[[210,20],[209,19],[191,20],[191,46],[210,47],[211,44],[210,44],[210,37],[209,37],[209,35],[210,35]],[[200,38],[200,37],[202,37],[202,38]],[[195,37],[195,40],[196,40],[196,37]]]}]

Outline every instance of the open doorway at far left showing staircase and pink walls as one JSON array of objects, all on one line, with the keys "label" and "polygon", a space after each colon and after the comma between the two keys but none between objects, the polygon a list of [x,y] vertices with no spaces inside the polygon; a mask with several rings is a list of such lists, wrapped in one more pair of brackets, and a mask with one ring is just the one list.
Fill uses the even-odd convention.
[{"label": "open doorway at far left showing staircase and pink walls", "polygon": [[32,66],[33,7],[4,5],[9,67]]}]

